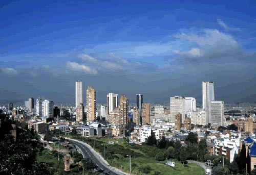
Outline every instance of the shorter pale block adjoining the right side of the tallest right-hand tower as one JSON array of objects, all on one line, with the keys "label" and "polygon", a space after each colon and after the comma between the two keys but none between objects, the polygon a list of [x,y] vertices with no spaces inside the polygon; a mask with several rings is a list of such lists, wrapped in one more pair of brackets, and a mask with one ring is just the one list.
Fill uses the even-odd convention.
[{"label": "shorter pale block adjoining the right side of the tallest right-hand tower", "polygon": [[210,102],[210,126],[223,126],[224,102],[211,101]]}]

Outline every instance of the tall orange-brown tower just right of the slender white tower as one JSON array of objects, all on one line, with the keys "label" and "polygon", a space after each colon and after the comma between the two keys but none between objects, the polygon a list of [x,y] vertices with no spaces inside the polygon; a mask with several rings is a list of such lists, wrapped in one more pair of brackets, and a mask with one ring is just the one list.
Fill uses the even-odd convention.
[{"label": "tall orange-brown tower just right of the slender white tower", "polygon": [[96,90],[88,86],[86,90],[87,121],[94,121],[96,117]]}]

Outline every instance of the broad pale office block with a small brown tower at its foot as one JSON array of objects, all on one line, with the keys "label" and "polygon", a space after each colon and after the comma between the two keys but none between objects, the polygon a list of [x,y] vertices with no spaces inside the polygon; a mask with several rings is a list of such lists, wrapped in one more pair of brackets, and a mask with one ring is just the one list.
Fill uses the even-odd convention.
[{"label": "broad pale office block with a small brown tower at its foot", "polygon": [[174,96],[170,97],[170,119],[169,122],[175,122],[175,116],[180,113],[182,116],[182,123],[185,119],[185,97],[183,96]]}]

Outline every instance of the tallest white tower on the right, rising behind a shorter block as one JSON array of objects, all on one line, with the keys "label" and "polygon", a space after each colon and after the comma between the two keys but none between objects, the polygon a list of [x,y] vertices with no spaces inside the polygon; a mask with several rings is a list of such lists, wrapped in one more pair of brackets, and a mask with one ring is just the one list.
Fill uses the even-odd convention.
[{"label": "tallest white tower on the right, rising behind a shorter block", "polygon": [[214,82],[203,82],[203,109],[207,110],[206,123],[210,123],[210,102],[214,99]]}]

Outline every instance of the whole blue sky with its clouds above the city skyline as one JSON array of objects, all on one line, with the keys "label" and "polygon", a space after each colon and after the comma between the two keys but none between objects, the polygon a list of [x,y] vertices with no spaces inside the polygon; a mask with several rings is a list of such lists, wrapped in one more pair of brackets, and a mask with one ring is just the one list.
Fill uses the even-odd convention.
[{"label": "whole blue sky with its clouds above the city skyline", "polygon": [[255,1],[1,1],[2,99],[74,101],[74,82],[135,101],[256,97]]}]

